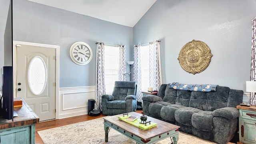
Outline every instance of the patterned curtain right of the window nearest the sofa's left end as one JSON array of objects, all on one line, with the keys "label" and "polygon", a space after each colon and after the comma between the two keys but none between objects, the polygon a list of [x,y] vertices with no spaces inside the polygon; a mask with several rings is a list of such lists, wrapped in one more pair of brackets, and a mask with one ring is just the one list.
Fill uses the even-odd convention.
[{"label": "patterned curtain right of the window nearest the sofa's left end", "polygon": [[149,43],[149,84],[153,90],[159,90],[162,84],[160,41]]}]

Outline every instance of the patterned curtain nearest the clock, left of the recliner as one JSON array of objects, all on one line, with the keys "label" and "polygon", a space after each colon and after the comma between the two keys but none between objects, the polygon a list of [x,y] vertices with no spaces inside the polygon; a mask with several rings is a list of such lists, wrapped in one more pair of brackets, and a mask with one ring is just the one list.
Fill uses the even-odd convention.
[{"label": "patterned curtain nearest the clock, left of the recliner", "polygon": [[101,96],[106,94],[105,87],[105,69],[104,69],[104,43],[96,42],[96,104],[97,109],[102,111],[101,109]]}]

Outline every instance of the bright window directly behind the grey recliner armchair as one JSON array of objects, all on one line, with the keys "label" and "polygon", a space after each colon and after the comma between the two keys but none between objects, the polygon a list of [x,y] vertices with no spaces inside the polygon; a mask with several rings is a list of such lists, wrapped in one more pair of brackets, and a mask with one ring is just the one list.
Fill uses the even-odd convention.
[{"label": "bright window directly behind the grey recliner armchair", "polygon": [[114,82],[118,80],[119,48],[105,45],[105,84],[106,94],[113,92]]}]

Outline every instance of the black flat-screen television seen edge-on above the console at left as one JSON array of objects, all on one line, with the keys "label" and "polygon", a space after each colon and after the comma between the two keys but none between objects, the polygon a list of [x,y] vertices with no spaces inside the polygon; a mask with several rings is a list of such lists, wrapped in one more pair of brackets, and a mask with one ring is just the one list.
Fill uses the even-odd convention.
[{"label": "black flat-screen television seen edge-on above the console at left", "polygon": [[1,68],[1,118],[13,121],[12,0],[4,31],[4,67]]}]

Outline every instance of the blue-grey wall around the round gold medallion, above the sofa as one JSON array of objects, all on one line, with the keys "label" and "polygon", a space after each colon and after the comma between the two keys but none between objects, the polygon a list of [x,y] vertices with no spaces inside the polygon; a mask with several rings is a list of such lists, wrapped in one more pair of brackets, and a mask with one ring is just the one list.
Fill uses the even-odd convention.
[{"label": "blue-grey wall around the round gold medallion, above the sofa", "polygon": [[[250,80],[255,0],[157,0],[133,28],[133,44],[161,40],[163,83],[218,84],[244,90]],[[213,57],[199,74],[184,71],[181,48],[205,42]]]}]

